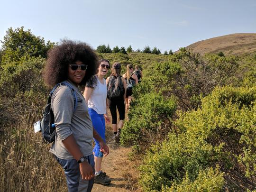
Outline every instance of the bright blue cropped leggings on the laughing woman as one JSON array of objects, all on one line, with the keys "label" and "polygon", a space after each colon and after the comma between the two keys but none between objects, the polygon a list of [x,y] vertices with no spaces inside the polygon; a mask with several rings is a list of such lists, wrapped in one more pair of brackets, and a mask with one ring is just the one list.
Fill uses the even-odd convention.
[{"label": "bright blue cropped leggings on the laughing woman", "polygon": [[[91,121],[92,121],[92,126],[93,128],[97,131],[97,133],[101,136],[101,138],[104,140],[104,142],[106,142],[106,138],[105,138],[105,119],[103,114],[98,114],[95,110],[88,108],[88,112],[89,115],[91,117]],[[99,144],[99,141],[95,138],[94,142],[95,142],[95,146],[93,148],[93,153],[94,156],[97,157],[103,157],[103,153],[100,151],[101,146]]]}]

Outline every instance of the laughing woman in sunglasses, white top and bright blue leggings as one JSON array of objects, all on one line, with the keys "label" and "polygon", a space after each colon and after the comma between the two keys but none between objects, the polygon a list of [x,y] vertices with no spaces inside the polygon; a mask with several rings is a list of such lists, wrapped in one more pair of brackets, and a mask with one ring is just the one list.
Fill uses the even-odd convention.
[{"label": "laughing woman in sunglasses, white top and bright blue leggings", "polygon": [[[99,133],[104,142],[105,138],[105,120],[110,122],[107,115],[107,85],[104,76],[110,69],[110,62],[107,59],[101,59],[99,61],[98,73],[91,77],[86,83],[83,96],[88,103],[89,115],[91,117],[92,125]],[[102,185],[110,184],[111,180],[106,177],[106,173],[101,171],[101,162],[103,153],[101,152],[101,146],[97,139],[94,138],[95,146],[93,148],[94,162],[95,162],[95,176],[94,183],[100,183]]]}]

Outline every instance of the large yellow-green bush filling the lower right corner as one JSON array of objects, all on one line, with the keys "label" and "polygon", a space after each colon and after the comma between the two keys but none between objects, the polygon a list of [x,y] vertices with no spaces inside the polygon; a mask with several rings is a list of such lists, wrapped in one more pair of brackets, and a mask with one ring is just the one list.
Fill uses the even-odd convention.
[{"label": "large yellow-green bush filling the lower right corner", "polygon": [[[180,113],[174,123],[182,133],[170,133],[147,152],[140,167],[141,187],[187,191],[189,186],[205,184],[210,189],[208,182],[201,183],[209,179],[209,184],[219,183],[212,183],[217,187],[214,191],[255,189],[255,99],[256,87],[216,88],[202,100],[200,109]],[[210,167],[219,167],[216,178],[207,176]]]}]

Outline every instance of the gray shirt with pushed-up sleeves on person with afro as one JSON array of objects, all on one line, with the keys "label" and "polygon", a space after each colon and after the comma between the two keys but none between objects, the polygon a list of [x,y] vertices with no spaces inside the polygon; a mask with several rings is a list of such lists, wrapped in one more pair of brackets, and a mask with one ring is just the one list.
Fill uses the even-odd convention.
[{"label": "gray shirt with pushed-up sleeves on person with afro", "polygon": [[55,116],[56,137],[50,152],[61,159],[73,159],[62,140],[73,134],[77,145],[84,156],[92,154],[92,123],[88,107],[78,88],[68,81],[77,96],[77,107],[74,110],[73,94],[69,87],[61,85],[52,95],[51,106]]}]

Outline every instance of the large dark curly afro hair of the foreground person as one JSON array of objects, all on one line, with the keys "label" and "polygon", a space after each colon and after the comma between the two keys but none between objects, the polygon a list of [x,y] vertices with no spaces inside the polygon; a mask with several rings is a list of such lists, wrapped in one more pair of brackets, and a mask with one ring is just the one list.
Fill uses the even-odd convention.
[{"label": "large dark curly afro hair of the foreground person", "polygon": [[50,87],[68,79],[68,67],[76,61],[87,64],[85,77],[79,85],[84,85],[98,68],[98,58],[93,49],[83,42],[63,40],[60,45],[48,51],[43,77]]}]

